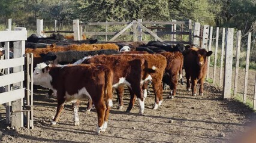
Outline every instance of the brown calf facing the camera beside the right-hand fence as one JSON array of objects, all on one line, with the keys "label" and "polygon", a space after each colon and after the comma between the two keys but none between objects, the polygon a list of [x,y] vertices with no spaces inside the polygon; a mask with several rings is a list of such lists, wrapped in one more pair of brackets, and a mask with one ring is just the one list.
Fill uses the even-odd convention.
[{"label": "brown calf facing the camera beside the right-hand fence", "polygon": [[203,95],[203,84],[207,72],[207,57],[212,51],[206,49],[189,48],[184,52],[184,67],[186,72],[186,90],[190,90],[189,79],[191,78],[192,95],[196,96],[196,85],[200,84],[199,95]]}]

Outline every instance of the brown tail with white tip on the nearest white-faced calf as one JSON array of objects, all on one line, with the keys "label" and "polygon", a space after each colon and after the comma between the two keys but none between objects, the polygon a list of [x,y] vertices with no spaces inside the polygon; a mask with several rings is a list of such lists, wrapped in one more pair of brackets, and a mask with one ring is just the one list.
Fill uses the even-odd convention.
[{"label": "brown tail with white tip on the nearest white-faced calf", "polygon": [[113,106],[112,97],[113,71],[109,68],[105,70],[105,101],[108,107]]}]

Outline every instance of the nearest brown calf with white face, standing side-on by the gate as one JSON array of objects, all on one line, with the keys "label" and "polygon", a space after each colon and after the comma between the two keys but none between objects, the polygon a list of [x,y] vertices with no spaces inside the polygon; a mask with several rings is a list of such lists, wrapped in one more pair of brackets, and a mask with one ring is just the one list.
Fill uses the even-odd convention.
[{"label": "nearest brown calf with white face, standing side-on by the gate", "polygon": [[[98,114],[97,133],[107,128],[112,102],[113,71],[101,64],[76,66],[47,66],[37,64],[34,84],[50,88],[57,95],[57,112],[52,125],[56,125],[65,102],[76,102],[89,98],[94,102]],[[73,104],[74,125],[79,125],[78,105]]]}]

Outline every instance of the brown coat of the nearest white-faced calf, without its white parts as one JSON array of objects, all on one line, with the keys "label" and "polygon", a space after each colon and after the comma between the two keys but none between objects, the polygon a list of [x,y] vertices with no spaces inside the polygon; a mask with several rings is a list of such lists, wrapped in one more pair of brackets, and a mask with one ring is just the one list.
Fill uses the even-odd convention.
[{"label": "brown coat of the nearest white-faced calf, without its white parts", "polygon": [[71,95],[71,100],[82,100],[85,98],[74,97],[80,89],[86,88],[95,104],[98,114],[98,126],[103,126],[107,122],[110,106],[108,100],[112,100],[113,72],[109,67],[100,64],[83,64],[65,67],[46,67],[44,72],[49,72],[52,76],[53,89],[57,90],[58,108],[53,121],[58,122],[61,110],[65,101],[70,101],[67,95]]}]

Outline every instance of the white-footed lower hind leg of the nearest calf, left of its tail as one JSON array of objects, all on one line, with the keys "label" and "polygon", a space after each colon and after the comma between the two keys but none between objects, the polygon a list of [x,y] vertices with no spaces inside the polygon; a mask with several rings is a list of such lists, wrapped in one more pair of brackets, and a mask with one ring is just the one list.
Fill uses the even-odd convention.
[{"label": "white-footed lower hind leg of the nearest calf, left of its tail", "polygon": [[97,126],[97,133],[104,132],[104,120],[105,120],[105,114],[106,114],[106,105],[104,104],[103,100],[98,100],[98,102],[94,102],[95,108],[97,110],[98,115],[98,126]]}]

